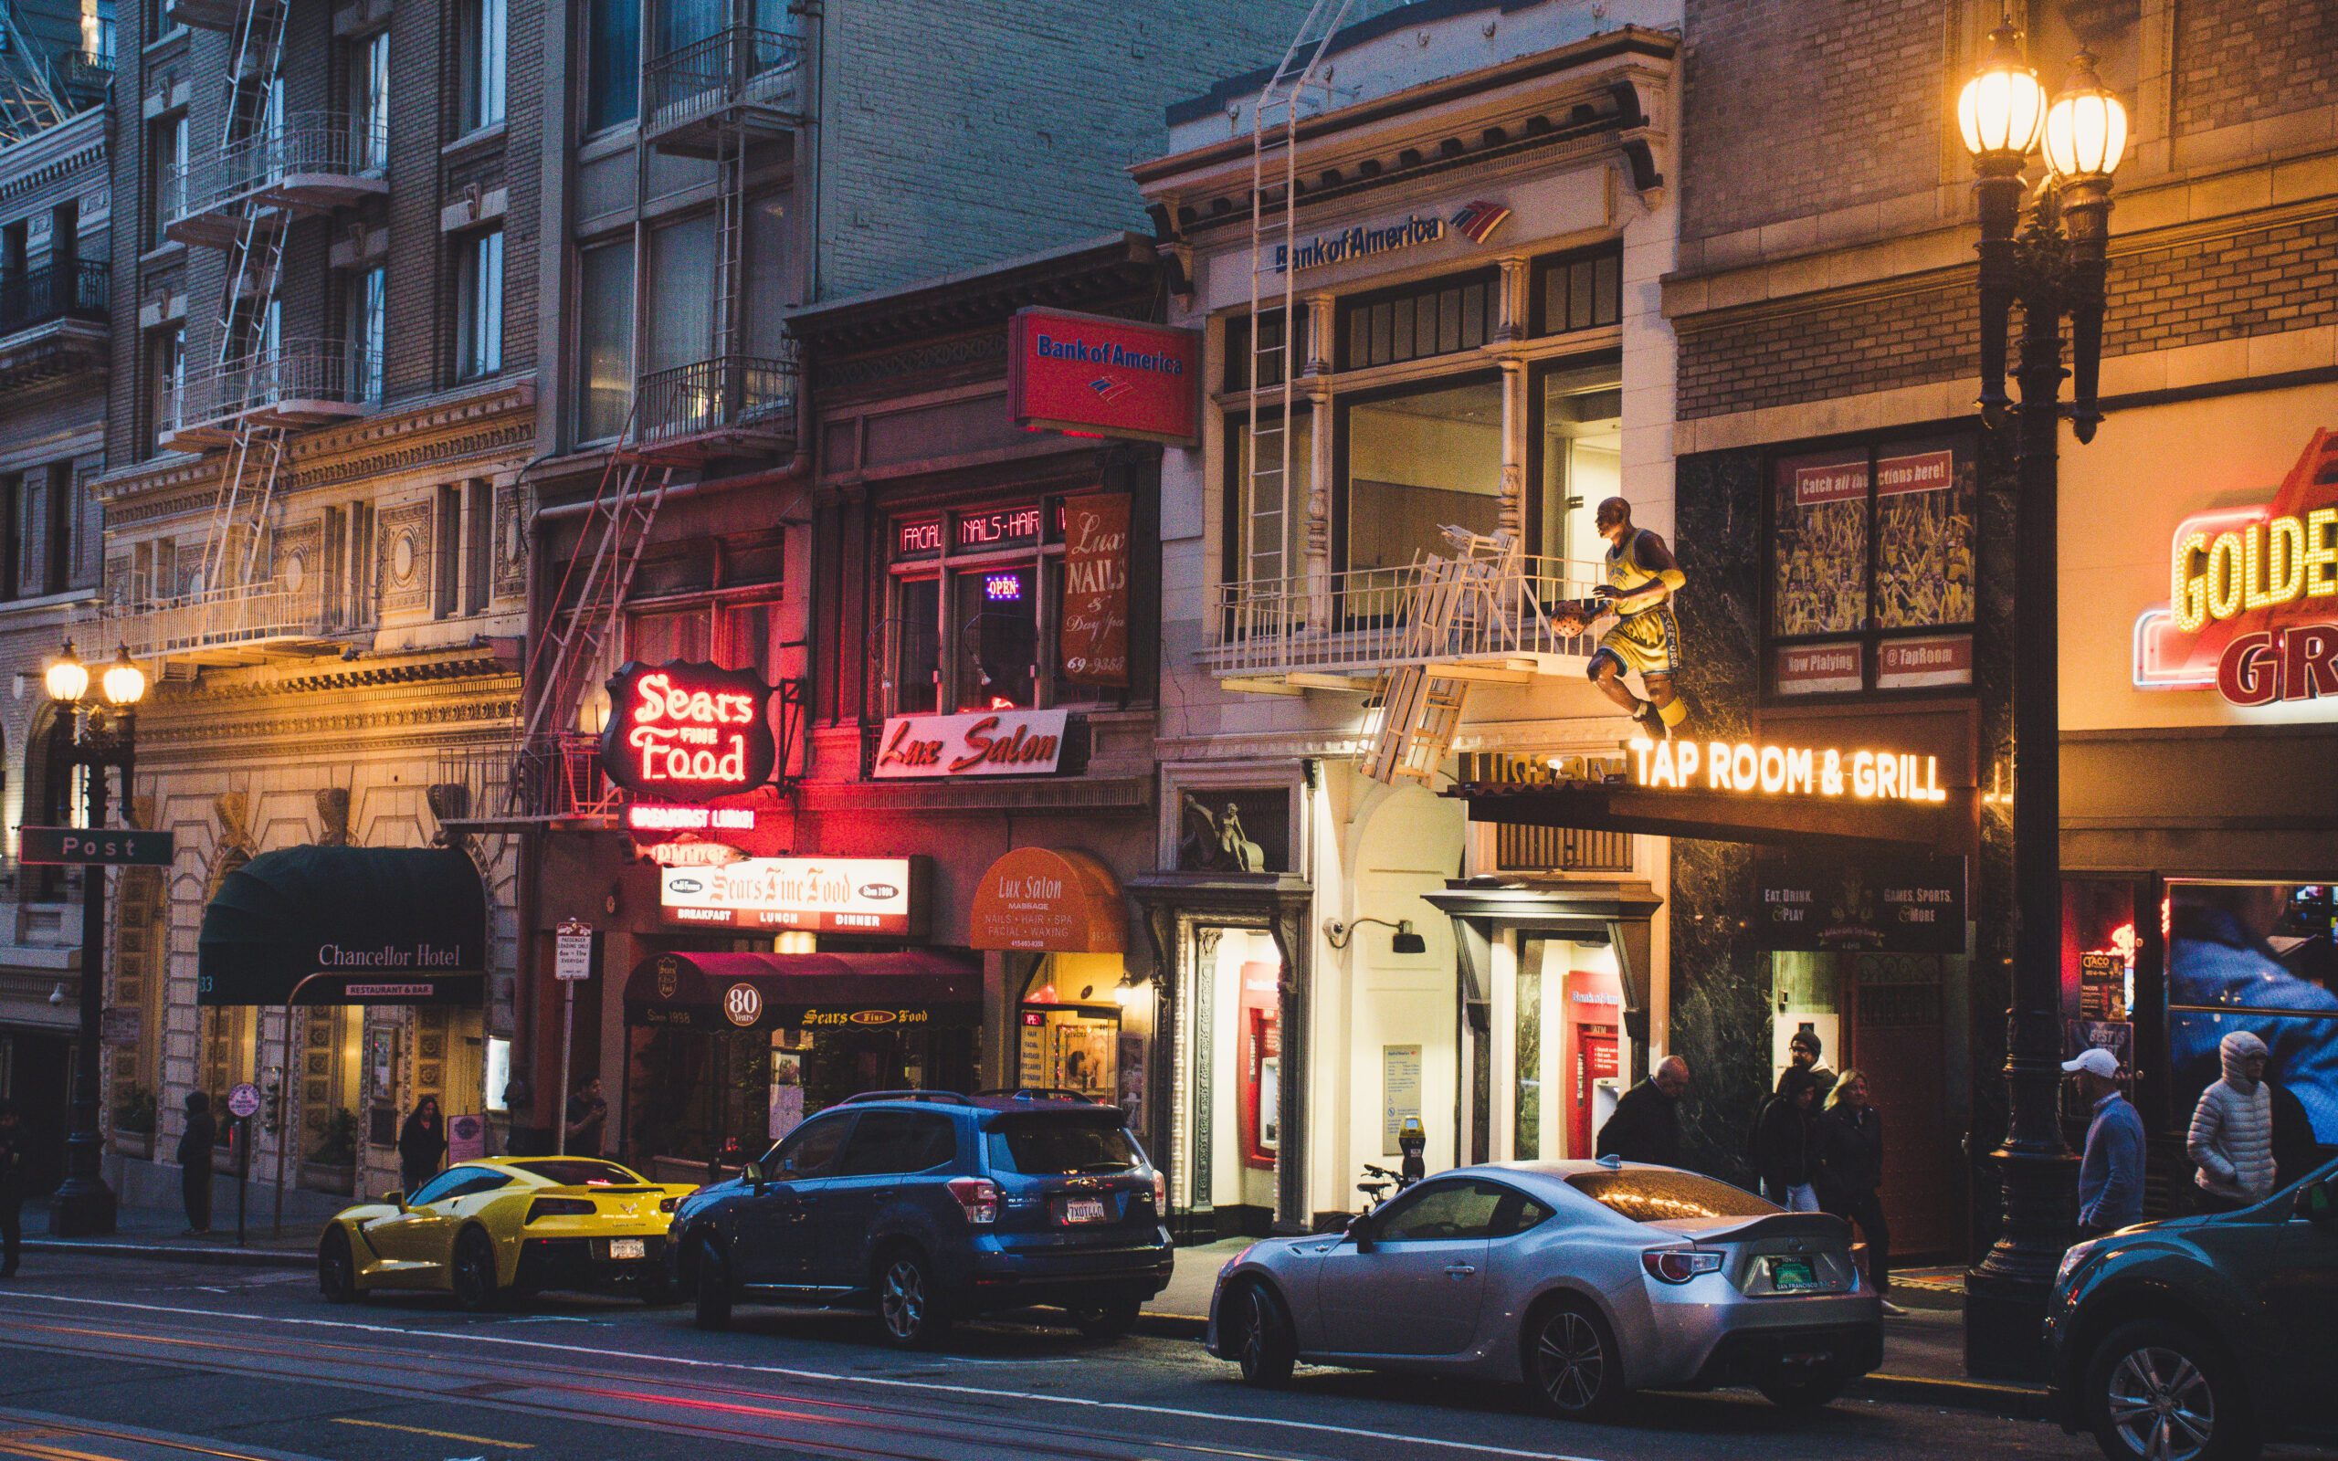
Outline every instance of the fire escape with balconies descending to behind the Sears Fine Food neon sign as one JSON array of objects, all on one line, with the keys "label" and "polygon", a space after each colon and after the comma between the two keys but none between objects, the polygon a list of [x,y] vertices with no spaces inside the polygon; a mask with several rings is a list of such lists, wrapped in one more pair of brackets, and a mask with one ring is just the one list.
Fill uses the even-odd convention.
[{"label": "fire escape with balconies descending to behind the Sears Fine Food neon sign", "polygon": [[[753,0],[732,0],[713,35],[652,54],[643,65],[643,171],[650,152],[713,164],[708,353],[659,365],[634,381],[624,430],[594,484],[575,549],[549,596],[554,610],[528,655],[517,755],[484,774],[442,769],[442,781],[470,788],[472,806],[484,813],[477,825],[606,825],[617,792],[601,776],[587,697],[617,669],[624,605],[666,489],[676,472],[713,461],[774,458],[795,449],[797,360],[793,351],[753,355],[746,344],[746,227],[750,164],[793,147],[809,105],[809,77],[802,37],[758,26],[755,12]],[[636,341],[643,332],[636,330]],[[779,692],[786,764],[800,699],[793,685]]]}]

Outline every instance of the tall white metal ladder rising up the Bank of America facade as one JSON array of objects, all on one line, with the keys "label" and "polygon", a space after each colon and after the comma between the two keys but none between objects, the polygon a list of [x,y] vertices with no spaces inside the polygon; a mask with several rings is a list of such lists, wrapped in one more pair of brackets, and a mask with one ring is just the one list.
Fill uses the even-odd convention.
[{"label": "tall white metal ladder rising up the Bank of America facade", "polygon": [[[1312,101],[1323,105],[1328,77],[1323,51],[1340,30],[1354,0],[1314,0],[1300,21],[1300,33],[1284,51],[1281,65],[1258,91],[1251,110],[1251,339],[1248,339],[1248,439],[1241,449],[1246,507],[1241,519],[1239,580],[1274,580],[1288,591],[1298,566],[1291,563],[1293,521],[1307,503],[1293,500],[1291,416],[1302,360],[1298,346],[1298,171],[1300,112]],[[1270,206],[1270,196],[1274,199]],[[1277,252],[1279,250],[1279,252]],[[1270,276],[1272,283],[1270,283]],[[1270,334],[1270,320],[1274,330]],[[1258,589],[1251,591],[1253,596]],[[1246,605],[1256,610],[1258,605]],[[1288,631],[1295,615],[1288,605],[1277,615]]]}]

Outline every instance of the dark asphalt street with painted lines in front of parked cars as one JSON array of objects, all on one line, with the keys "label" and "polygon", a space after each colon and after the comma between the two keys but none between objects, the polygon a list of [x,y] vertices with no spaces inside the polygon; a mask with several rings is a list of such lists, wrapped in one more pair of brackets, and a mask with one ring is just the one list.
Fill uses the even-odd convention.
[{"label": "dark asphalt street with painted lines in front of parked cars", "polygon": [[0,1286],[0,1456],[666,1461],[708,1449],[919,1461],[2095,1456],[2034,1421],[1751,1393],[1639,1396],[1613,1426],[1522,1391],[1302,1370],[1246,1389],[1190,1339],[963,1325],[935,1353],[851,1314],[545,1295],[468,1316],[426,1295],[334,1307],[281,1269],[37,1255]]}]

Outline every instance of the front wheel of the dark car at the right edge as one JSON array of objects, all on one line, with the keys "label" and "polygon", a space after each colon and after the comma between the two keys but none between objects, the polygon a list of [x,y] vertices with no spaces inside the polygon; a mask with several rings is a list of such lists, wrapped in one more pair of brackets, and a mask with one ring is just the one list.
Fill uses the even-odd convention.
[{"label": "front wheel of the dark car at the right edge", "polygon": [[2240,1377],[2184,1325],[2111,1330],[2085,1367],[2085,1419],[2111,1461],[2247,1461],[2259,1452]]}]

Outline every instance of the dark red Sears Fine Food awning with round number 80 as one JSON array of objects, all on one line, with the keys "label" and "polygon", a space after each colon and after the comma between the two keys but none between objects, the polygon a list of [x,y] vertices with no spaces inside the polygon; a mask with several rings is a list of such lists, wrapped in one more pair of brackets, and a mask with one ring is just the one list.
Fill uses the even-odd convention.
[{"label": "dark red Sears Fine Food awning with round number 80", "polygon": [[905,954],[657,954],[624,982],[624,1022],[694,1031],[980,1026],[982,963]]}]

